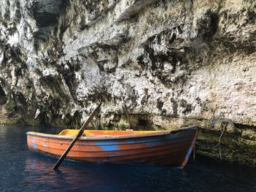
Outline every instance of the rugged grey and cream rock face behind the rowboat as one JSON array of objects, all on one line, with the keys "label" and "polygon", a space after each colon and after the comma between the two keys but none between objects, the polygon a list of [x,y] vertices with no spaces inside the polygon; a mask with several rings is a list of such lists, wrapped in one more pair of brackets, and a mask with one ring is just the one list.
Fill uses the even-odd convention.
[{"label": "rugged grey and cream rock face behind the rowboat", "polygon": [[[94,128],[198,125],[198,152],[256,164],[254,0],[6,0],[0,119]],[[202,147],[203,146],[203,147]],[[211,149],[211,150],[209,150]]]}]

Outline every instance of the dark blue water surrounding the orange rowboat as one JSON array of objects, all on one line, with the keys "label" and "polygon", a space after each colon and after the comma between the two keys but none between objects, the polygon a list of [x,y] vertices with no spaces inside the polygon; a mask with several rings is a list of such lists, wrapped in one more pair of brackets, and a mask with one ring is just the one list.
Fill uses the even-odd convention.
[{"label": "dark blue water surrounding the orange rowboat", "polygon": [[256,169],[198,157],[184,169],[64,161],[33,153],[26,131],[60,129],[0,125],[0,191],[256,191]]}]

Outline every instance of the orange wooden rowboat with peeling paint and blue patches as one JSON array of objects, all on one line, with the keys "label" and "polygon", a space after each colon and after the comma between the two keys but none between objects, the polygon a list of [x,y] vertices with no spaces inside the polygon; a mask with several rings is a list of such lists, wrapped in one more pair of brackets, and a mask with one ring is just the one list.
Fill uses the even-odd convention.
[{"label": "orange wooden rowboat with peeling paint and blue patches", "polygon": [[[60,134],[27,132],[29,149],[61,156],[79,130],[65,129]],[[197,127],[173,131],[86,130],[67,158],[99,163],[143,163],[183,167],[194,147]]]}]

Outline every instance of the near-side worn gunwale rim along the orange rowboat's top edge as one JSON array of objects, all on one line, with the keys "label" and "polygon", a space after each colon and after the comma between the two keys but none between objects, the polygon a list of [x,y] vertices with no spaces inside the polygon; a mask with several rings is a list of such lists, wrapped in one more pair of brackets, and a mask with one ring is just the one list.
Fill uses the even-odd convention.
[{"label": "near-side worn gunwale rim along the orange rowboat's top edge", "polygon": [[[187,131],[192,129],[197,129],[197,126],[176,128],[171,131],[156,131],[154,133],[148,133],[148,134],[132,134],[132,135],[118,135],[118,136],[111,136],[111,135],[81,136],[79,140],[87,141],[87,140],[111,140],[111,139],[134,139],[134,138],[140,138],[140,137],[157,137],[157,136],[166,135],[166,134],[176,134],[181,131]],[[72,140],[76,135],[75,134],[74,136],[64,136],[59,134],[44,134],[44,133],[39,133],[34,131],[29,131],[26,134],[29,136],[45,137],[49,139],[65,139],[65,140]]]}]

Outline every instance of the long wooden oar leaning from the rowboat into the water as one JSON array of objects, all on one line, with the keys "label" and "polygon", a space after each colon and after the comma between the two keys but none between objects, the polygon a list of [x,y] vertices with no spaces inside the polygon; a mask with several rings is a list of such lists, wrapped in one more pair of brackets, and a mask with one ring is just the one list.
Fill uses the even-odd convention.
[{"label": "long wooden oar leaning from the rowboat into the water", "polygon": [[69,153],[69,150],[71,150],[71,148],[73,147],[73,145],[75,144],[75,142],[78,140],[78,138],[83,134],[83,130],[89,125],[89,123],[91,122],[91,120],[94,118],[94,115],[97,114],[97,112],[99,111],[99,107],[102,104],[99,104],[98,107],[96,107],[96,109],[94,110],[94,112],[91,113],[90,117],[88,118],[88,120],[86,120],[86,123],[83,123],[83,126],[80,128],[78,135],[72,140],[72,142],[69,144],[69,147],[67,147],[67,150],[64,151],[64,153],[61,155],[61,158],[59,158],[59,161],[55,164],[55,166],[53,166],[53,170],[54,169],[58,169],[58,167],[61,165],[62,161],[64,160],[64,158],[67,156],[67,153]]}]

